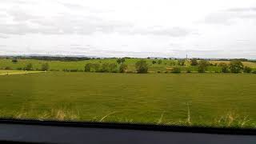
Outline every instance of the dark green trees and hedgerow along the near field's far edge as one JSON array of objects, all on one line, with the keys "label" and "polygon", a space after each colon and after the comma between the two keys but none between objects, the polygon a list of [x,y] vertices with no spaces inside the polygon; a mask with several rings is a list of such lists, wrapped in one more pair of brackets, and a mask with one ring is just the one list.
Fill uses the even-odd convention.
[{"label": "dark green trees and hedgerow along the near field's far edge", "polygon": [[[12,62],[18,63],[18,59],[14,58],[12,59]],[[118,58],[116,62],[98,62],[98,63],[86,63],[84,70],[68,70],[63,69],[62,71],[66,72],[102,72],[102,73],[132,73],[131,71],[128,71],[128,66],[125,63],[126,58]],[[152,61],[152,64],[161,64],[162,60],[159,59],[158,61],[154,60]],[[178,66],[174,66],[170,72],[171,73],[181,73],[181,67],[185,66],[185,60],[178,60]],[[197,66],[198,67],[198,73],[205,73],[208,69],[208,66],[213,66],[209,61],[206,60],[198,60],[197,58],[193,58],[190,60],[190,66]],[[220,62],[218,65],[217,63],[214,66],[220,66],[222,67],[222,70],[220,72],[222,73],[251,73],[253,70],[249,66],[243,66],[242,62],[238,59],[230,61],[230,63],[226,62]],[[138,62],[135,63],[135,69],[137,73],[148,73],[149,64],[146,62],[146,60],[141,59]],[[10,66],[6,66],[5,70],[11,70]],[[32,63],[27,64],[23,68],[18,68],[18,70],[34,70]],[[35,70],[42,70],[42,71],[48,71],[50,70],[50,65],[48,62],[42,63],[41,69],[35,69]],[[187,73],[191,73],[191,70],[186,70]],[[216,71],[217,72],[217,71]],[[158,73],[160,73],[158,71]],[[167,71],[166,71],[167,73]],[[253,73],[256,73],[254,71]]]}]

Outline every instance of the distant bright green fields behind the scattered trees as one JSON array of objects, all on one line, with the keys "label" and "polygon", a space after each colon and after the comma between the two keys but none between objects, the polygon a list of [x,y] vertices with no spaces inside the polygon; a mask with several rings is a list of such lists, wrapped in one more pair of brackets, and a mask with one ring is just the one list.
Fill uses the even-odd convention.
[{"label": "distant bright green fields behind the scattered trees", "polygon": [[[128,65],[128,71],[135,71],[135,63],[140,60],[139,58],[126,58],[126,64]],[[173,66],[178,66],[178,60],[169,60],[162,59],[161,64],[152,64],[153,61],[158,62],[158,59],[145,59],[149,64],[150,72],[165,72],[168,71],[168,68]],[[117,58],[109,58],[109,59],[90,59],[86,61],[78,61],[78,62],[60,62],[60,61],[42,61],[42,60],[34,60],[34,59],[19,59],[18,63],[11,62],[11,59],[0,59],[0,69],[5,69],[6,66],[9,66],[13,70],[17,70],[18,68],[23,68],[27,64],[32,63],[34,70],[40,70],[43,63],[48,62],[50,65],[50,70],[58,70],[62,71],[63,69],[68,70],[84,70],[86,63],[103,63],[103,62],[114,62],[116,63]],[[211,61],[211,63],[219,63],[221,61]],[[224,61],[226,62],[226,61]],[[192,71],[197,71],[197,66],[190,66],[188,61],[185,62],[186,66],[181,67],[182,71],[186,71],[188,69]],[[254,70],[256,70],[256,62],[243,62],[245,66],[250,66]],[[166,69],[167,68],[167,69]],[[215,72],[220,71],[221,67],[219,66],[209,66],[207,71]]]}]

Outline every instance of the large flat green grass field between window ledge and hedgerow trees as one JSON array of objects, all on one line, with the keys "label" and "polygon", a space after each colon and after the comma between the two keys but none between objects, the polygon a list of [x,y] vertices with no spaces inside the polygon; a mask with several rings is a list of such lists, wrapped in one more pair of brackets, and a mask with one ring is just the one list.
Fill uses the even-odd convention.
[{"label": "large flat green grass field between window ledge and hedgerow trees", "polygon": [[0,76],[8,118],[256,127],[256,74]]}]

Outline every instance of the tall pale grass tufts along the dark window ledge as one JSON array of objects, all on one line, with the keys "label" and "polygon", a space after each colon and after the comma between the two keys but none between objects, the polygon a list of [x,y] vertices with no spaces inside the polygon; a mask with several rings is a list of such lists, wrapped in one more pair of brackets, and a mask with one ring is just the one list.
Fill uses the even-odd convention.
[{"label": "tall pale grass tufts along the dark window ledge", "polygon": [[[54,121],[69,121],[69,122],[81,122],[79,113],[76,110],[67,110],[67,109],[53,109],[50,111],[44,111],[41,114],[36,116],[31,116],[31,111],[22,109],[20,112],[12,115],[10,118],[16,119],[30,119],[33,120],[54,120]],[[98,118],[88,119],[86,122],[117,122],[117,123],[136,123],[133,119],[130,118],[111,118],[114,114],[122,113],[122,111],[114,111],[103,115]],[[2,115],[1,111],[0,114]],[[226,114],[223,114],[221,117],[214,118],[210,122],[205,122],[204,124],[198,124],[194,122],[190,115],[190,104],[187,103],[187,117],[179,121],[170,121],[163,122],[165,111],[162,112],[160,117],[154,122],[142,123],[150,125],[162,125],[162,126],[207,126],[207,127],[234,127],[234,128],[256,128],[256,123],[251,122],[249,116],[241,116],[236,114],[234,111],[230,111]]]}]

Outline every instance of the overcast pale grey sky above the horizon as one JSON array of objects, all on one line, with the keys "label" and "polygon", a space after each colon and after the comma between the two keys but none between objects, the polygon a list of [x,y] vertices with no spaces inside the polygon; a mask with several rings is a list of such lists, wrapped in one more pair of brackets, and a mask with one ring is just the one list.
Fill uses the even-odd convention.
[{"label": "overcast pale grey sky above the horizon", "polygon": [[255,0],[0,0],[0,55],[256,58]]}]

